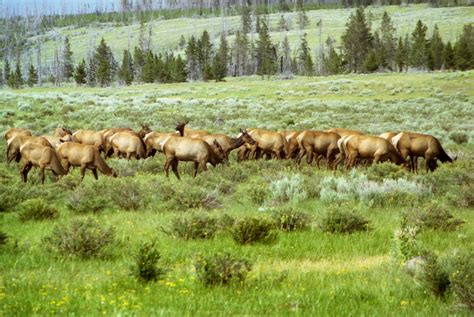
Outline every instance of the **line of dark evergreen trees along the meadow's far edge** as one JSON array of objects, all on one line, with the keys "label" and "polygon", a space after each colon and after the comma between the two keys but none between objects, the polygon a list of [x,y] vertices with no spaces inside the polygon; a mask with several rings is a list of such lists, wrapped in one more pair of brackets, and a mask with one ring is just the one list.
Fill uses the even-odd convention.
[{"label": "line of dark evergreen trees along the meadow's far edge", "polygon": [[[300,29],[309,23],[301,7],[298,19]],[[318,23],[321,23],[319,21]],[[118,63],[112,50],[102,39],[87,59],[73,64],[73,52],[66,37],[62,49],[55,53],[55,67],[49,81],[55,84],[74,80],[78,85],[105,87],[113,82],[130,85],[137,83],[170,83],[188,81],[223,80],[226,76],[282,75],[302,76],[331,75],[342,73],[370,73],[377,71],[418,70],[468,70],[474,68],[474,28],[463,27],[462,34],[451,43],[443,42],[435,25],[431,37],[427,26],[418,21],[415,29],[405,36],[396,36],[396,29],[389,14],[383,14],[381,24],[372,30],[359,7],[351,14],[340,44],[327,38],[313,55],[308,45],[307,34],[300,36],[298,47],[292,48],[287,37],[274,43],[270,37],[266,15],[251,15],[244,10],[241,24],[233,42],[229,45],[225,32],[221,32],[218,43],[213,43],[209,33],[181,37],[180,48],[184,56],[174,53],[155,54],[144,37],[141,25],[139,45],[133,51],[124,50]],[[278,28],[285,28],[284,19]],[[256,39],[249,34],[256,31]],[[26,76],[22,74],[20,61],[13,69],[5,60],[2,81],[12,88],[38,83],[37,68],[30,63]]]}]

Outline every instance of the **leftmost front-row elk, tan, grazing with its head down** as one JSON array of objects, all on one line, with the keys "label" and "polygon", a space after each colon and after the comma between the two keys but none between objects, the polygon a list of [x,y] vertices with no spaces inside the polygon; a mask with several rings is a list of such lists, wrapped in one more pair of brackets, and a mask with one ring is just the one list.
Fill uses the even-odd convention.
[{"label": "leftmost front-row elk, tan, grazing with its head down", "polygon": [[50,146],[26,143],[20,148],[23,167],[20,176],[23,182],[27,182],[28,173],[33,166],[40,169],[41,184],[44,184],[44,170],[49,169],[54,175],[66,175],[67,171],[61,166],[56,151]]}]

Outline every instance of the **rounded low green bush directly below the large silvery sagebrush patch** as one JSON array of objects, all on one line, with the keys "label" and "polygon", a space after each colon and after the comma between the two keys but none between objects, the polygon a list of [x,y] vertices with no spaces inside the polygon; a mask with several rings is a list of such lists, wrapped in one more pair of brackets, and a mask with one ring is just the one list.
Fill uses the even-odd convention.
[{"label": "rounded low green bush directly below the large silvery sagebrush patch", "polygon": [[322,216],[319,227],[324,232],[352,233],[368,230],[369,221],[352,211],[337,208],[330,210]]}]

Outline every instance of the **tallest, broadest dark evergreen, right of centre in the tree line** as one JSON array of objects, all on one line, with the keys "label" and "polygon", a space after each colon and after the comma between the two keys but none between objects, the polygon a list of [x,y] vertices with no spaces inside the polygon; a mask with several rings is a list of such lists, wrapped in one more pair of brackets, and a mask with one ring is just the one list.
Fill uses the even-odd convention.
[{"label": "tallest, broadest dark evergreen, right of centre in the tree line", "polygon": [[363,7],[359,7],[355,15],[351,14],[341,40],[345,59],[349,63],[349,70],[353,72],[360,71],[367,54],[372,48],[373,40]]}]

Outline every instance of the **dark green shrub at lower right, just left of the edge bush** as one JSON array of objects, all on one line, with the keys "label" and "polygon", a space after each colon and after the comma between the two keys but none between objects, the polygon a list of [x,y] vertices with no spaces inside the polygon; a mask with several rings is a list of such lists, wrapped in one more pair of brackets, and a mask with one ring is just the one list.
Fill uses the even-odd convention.
[{"label": "dark green shrub at lower right, just left of the edge bush", "polygon": [[448,271],[440,263],[438,256],[432,252],[423,254],[422,269],[415,278],[434,295],[440,297],[446,294],[450,284]]}]

